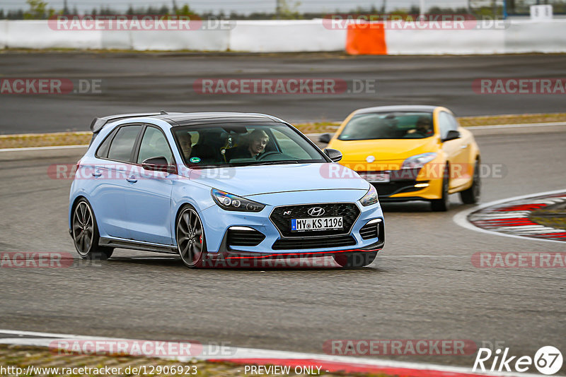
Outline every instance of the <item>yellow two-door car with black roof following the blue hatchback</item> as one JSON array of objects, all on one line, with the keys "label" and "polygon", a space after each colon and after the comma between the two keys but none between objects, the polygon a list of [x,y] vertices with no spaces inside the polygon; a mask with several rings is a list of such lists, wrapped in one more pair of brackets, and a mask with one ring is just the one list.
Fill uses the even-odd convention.
[{"label": "yellow two-door car with black roof following the blue hatchback", "polygon": [[358,109],[319,141],[340,150],[340,164],[373,184],[380,201],[430,201],[434,211],[449,209],[451,193],[479,201],[480,149],[445,107]]}]

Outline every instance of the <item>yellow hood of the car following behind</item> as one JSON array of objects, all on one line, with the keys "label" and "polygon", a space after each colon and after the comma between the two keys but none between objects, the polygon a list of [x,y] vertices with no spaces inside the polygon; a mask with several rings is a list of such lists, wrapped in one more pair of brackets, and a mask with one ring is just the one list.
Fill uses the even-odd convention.
[{"label": "yellow hood of the car following behind", "polygon": [[381,140],[332,140],[328,148],[340,150],[342,162],[366,162],[368,156],[375,161],[405,160],[426,152],[437,152],[438,138],[381,139]]}]

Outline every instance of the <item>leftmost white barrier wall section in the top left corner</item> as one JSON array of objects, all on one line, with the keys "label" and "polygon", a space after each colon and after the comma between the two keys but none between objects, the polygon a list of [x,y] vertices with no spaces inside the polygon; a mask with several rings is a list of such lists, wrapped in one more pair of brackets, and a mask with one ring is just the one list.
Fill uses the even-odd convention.
[{"label": "leftmost white barrier wall section in the top left corner", "polygon": [[47,20],[11,20],[6,47],[20,49],[100,49],[98,30],[66,31],[50,28]]}]

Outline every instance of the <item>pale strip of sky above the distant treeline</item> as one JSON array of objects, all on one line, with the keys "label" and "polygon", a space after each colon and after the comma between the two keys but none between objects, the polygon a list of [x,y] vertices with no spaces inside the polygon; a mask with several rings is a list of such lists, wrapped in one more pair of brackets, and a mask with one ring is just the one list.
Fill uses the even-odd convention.
[{"label": "pale strip of sky above the distant treeline", "polygon": [[[63,8],[64,0],[44,0],[47,1],[49,7],[54,9]],[[213,11],[217,13],[221,10],[224,13],[236,11],[238,13],[251,13],[254,11],[272,13],[275,11],[277,0],[176,0],[177,5],[189,4],[190,8],[197,12]],[[335,12],[335,11],[351,11],[357,7],[371,8],[375,6],[381,9],[383,1],[386,3],[387,11],[395,8],[410,8],[410,6],[419,6],[420,0],[287,0],[287,4],[300,3],[298,10],[302,12]],[[460,8],[466,7],[468,0],[422,0],[426,7],[441,6]],[[470,0],[472,3],[483,3],[486,0]],[[130,5],[134,8],[147,6],[166,5],[171,8],[173,0],[67,0],[69,8],[72,10],[74,6],[80,13],[91,11],[93,8],[100,6],[109,6],[117,11],[125,11]],[[0,0],[0,8],[4,10],[10,9],[26,9],[25,0]]]}]

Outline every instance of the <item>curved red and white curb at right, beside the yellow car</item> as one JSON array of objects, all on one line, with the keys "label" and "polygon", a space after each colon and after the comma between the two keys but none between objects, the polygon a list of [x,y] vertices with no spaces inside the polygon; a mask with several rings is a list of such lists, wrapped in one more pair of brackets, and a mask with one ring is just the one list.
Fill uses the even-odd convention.
[{"label": "curved red and white curb at right, beside the yellow car", "polygon": [[564,242],[566,231],[529,220],[533,210],[566,202],[566,191],[547,191],[493,201],[463,210],[454,222],[476,232],[542,241]]}]

